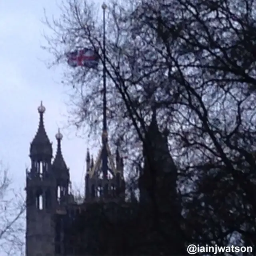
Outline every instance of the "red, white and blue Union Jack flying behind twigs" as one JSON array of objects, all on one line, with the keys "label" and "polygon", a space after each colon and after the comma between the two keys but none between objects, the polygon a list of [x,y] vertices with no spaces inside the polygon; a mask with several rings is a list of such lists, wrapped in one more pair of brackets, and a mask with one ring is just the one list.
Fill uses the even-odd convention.
[{"label": "red, white and blue Union Jack flying behind twigs", "polygon": [[82,50],[75,50],[74,52],[67,53],[68,65],[76,68],[83,66],[87,68],[97,68],[99,62],[98,52],[90,48],[84,48]]}]

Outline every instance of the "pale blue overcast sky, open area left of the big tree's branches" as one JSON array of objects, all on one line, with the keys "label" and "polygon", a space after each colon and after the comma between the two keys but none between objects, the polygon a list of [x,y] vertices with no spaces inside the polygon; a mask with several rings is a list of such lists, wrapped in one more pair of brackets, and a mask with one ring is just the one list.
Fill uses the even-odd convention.
[{"label": "pale blue overcast sky, open area left of the big tree's branches", "polygon": [[[30,165],[29,146],[38,128],[40,101],[46,107],[44,124],[54,154],[55,134],[67,120],[68,98],[60,72],[47,69],[42,61],[47,56],[40,48],[46,28],[40,21],[44,8],[49,16],[58,16],[55,0],[0,0],[0,160],[20,187],[25,186],[25,168]],[[61,132],[72,183],[83,188],[88,141],[76,138],[74,130]]]}]

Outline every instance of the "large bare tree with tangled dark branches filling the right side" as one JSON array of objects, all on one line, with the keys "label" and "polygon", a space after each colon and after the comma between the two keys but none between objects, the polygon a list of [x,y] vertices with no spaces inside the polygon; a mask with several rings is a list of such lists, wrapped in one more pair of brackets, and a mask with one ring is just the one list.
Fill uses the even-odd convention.
[{"label": "large bare tree with tangled dark branches filling the right side", "polygon": [[[178,168],[187,243],[255,248],[255,2],[146,0],[108,8],[110,136],[128,153],[128,170],[143,169],[147,159],[156,181],[163,168],[147,133],[155,108]],[[46,19],[56,63],[75,47],[102,49],[94,6],[74,0],[62,11],[60,20]],[[64,83],[75,88],[72,123],[97,130],[99,72],[68,69]]]}]

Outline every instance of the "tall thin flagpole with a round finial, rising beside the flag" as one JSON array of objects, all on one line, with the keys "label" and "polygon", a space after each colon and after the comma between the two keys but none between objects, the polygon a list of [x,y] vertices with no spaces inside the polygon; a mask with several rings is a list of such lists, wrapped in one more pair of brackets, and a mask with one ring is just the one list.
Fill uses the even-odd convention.
[{"label": "tall thin flagpole with a round finial, rising beside the flag", "polygon": [[[106,117],[106,109],[107,109],[107,102],[106,102],[106,24],[105,24],[105,12],[106,12],[106,4],[102,4],[103,9],[103,129],[102,129],[102,172],[104,179],[108,178],[108,154],[107,154],[107,140],[108,140],[108,133],[107,133],[107,117]],[[105,188],[104,188],[105,190]],[[106,194],[107,191],[104,191]]]}]

